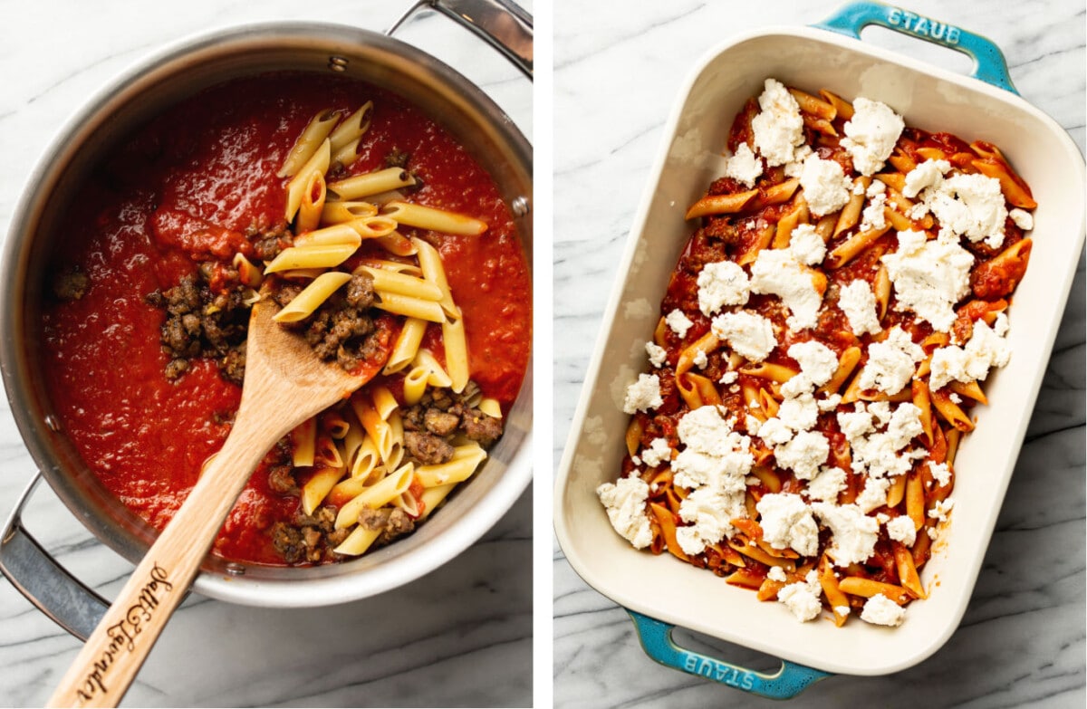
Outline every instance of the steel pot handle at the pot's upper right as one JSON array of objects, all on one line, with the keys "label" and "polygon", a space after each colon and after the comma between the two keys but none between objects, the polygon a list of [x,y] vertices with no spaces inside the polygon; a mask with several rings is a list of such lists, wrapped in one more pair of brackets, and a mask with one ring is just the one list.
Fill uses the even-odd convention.
[{"label": "steel pot handle at the pot's upper right", "polygon": [[429,8],[452,17],[533,78],[533,16],[510,0],[417,0],[385,34]]}]

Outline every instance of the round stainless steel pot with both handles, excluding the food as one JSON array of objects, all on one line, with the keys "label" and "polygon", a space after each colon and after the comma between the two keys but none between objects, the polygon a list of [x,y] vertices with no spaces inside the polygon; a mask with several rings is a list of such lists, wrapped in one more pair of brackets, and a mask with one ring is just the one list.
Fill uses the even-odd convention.
[{"label": "round stainless steel pot with both handles, excluding the food", "polygon": [[[467,24],[532,75],[530,17],[504,0],[420,2],[408,14],[427,7]],[[40,476],[88,530],[133,562],[143,556],[154,530],[113,498],[83,463],[53,414],[40,366],[38,303],[47,257],[61,238],[59,215],[90,169],[134,127],[209,86],[282,70],[364,79],[400,95],[443,125],[497,182],[516,217],[530,264],[532,147],[478,87],[389,36],[312,23],[238,27],[164,51],[99,92],[46,151],[12,219],[2,265],[0,369]],[[195,590],[252,606],[321,606],[387,590],[445,563],[490,528],[527,486],[532,394],[529,366],[505,434],[487,464],[410,537],[350,562],[317,568],[276,569],[209,557]],[[38,480],[28,486],[0,538],[0,570],[38,608],[85,637],[107,604],[57,564],[22,524],[22,508]]]}]

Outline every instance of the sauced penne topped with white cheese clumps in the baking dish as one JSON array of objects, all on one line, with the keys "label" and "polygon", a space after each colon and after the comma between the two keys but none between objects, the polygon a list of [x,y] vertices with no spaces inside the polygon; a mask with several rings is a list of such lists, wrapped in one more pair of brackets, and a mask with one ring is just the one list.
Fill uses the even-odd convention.
[{"label": "sauced penne topped with white cheese clumps in the baking dish", "polygon": [[1011,356],[1036,203],[996,146],[775,79],[727,149],[598,495],[636,548],[801,621],[898,625]]}]

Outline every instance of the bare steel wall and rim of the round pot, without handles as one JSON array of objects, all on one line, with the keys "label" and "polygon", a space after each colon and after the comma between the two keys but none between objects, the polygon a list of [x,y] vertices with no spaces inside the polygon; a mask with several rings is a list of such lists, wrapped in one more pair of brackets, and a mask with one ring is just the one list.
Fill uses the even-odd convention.
[{"label": "bare steel wall and rim of the round pot, without handles", "polygon": [[[477,87],[400,41],[336,25],[245,27],[187,42],[102,91],[47,151],[12,221],[5,259],[9,295],[2,309],[8,321],[3,328],[3,375],[16,422],[46,478],[96,536],[134,562],[152,543],[154,530],[108,493],[88,470],[49,400],[39,341],[39,303],[49,257],[64,238],[59,225],[76,190],[127,136],[168,107],[211,86],[283,71],[333,73],[367,82],[399,95],[443,126],[495,179],[514,215],[529,268],[532,264],[530,147]],[[209,556],[203,570],[210,573],[201,574],[197,590],[259,605],[320,605],[384,590],[448,560],[497,521],[527,484],[530,470],[527,455],[522,452],[527,448],[532,419],[530,369],[529,363],[503,437],[472,484],[450,497],[446,513],[435,514],[393,545],[338,564],[273,568]],[[479,507],[489,512],[475,515],[487,518],[482,524],[468,517]],[[448,535],[460,544],[441,542],[440,537]],[[398,581],[391,570],[405,564],[414,571],[410,577],[401,574]],[[382,573],[375,571],[382,568]],[[297,590],[298,584],[367,571],[380,576],[368,588],[352,581],[354,588],[337,589],[324,598],[313,595],[316,588],[307,590],[298,601],[288,595],[277,600],[274,590],[264,597],[252,590],[253,586],[267,589],[279,584]],[[230,583],[224,585],[224,581]]]}]

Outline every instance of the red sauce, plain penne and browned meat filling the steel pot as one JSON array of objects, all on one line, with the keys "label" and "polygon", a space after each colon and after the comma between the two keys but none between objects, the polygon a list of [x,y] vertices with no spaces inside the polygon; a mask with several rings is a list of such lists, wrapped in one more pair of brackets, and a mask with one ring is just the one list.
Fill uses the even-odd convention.
[{"label": "red sauce, plain penne and browned meat filling the steel pot", "polygon": [[376,376],[268,452],[214,553],[363,553],[486,458],[527,366],[530,276],[489,175],[421,112],[342,77],[239,79],[95,177],[43,307],[49,383],[84,461],[147,522],[168,523],[226,438],[261,297],[318,356]]}]

